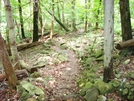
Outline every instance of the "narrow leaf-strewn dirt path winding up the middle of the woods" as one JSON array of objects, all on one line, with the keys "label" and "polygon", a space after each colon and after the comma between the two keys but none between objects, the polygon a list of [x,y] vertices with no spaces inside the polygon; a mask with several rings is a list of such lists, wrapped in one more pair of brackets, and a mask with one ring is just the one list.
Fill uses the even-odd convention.
[{"label": "narrow leaf-strewn dirt path winding up the middle of the woods", "polygon": [[48,81],[48,99],[49,101],[80,101],[76,84],[76,79],[80,72],[78,59],[73,51],[61,49],[60,44],[60,42],[56,41],[56,46],[53,46],[52,49],[65,54],[68,57],[68,61],[52,65],[51,68],[42,68],[44,77],[53,78],[53,80]]}]

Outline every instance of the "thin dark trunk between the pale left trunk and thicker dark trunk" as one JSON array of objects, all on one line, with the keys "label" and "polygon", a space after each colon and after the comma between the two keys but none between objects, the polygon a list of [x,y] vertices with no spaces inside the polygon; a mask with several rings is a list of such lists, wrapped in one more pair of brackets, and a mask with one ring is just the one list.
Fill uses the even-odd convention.
[{"label": "thin dark trunk between the pale left trunk and thicker dark trunk", "polygon": [[19,15],[20,15],[20,25],[21,25],[21,35],[22,39],[25,39],[25,32],[24,32],[24,23],[23,23],[23,16],[22,16],[22,8],[21,8],[21,0],[18,0],[19,3]]}]

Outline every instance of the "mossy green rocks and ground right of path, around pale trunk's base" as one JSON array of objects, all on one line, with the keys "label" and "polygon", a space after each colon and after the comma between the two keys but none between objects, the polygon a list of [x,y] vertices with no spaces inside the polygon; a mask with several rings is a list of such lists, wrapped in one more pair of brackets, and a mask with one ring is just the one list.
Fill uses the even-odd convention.
[{"label": "mossy green rocks and ground right of path, around pale trunk's base", "polygon": [[89,46],[80,59],[83,72],[77,83],[86,101],[134,100],[134,56],[122,58],[114,55],[115,79],[109,83],[103,82],[102,49],[91,50]]}]

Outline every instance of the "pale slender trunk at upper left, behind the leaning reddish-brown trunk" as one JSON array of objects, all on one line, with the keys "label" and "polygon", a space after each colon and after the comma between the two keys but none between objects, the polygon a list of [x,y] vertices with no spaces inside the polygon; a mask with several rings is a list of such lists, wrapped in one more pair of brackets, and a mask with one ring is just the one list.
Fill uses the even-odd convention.
[{"label": "pale slender trunk at upper left, behind the leaning reddish-brown trunk", "polygon": [[[9,29],[9,42],[10,42],[10,48],[11,48],[11,54],[13,57],[13,63],[18,64],[19,55],[17,51],[16,46],[16,35],[14,31],[14,22],[12,18],[12,10],[9,0],[4,0],[5,4],[5,10],[6,10],[6,20],[7,20],[7,26]],[[18,65],[18,69],[20,69],[20,66]]]}]

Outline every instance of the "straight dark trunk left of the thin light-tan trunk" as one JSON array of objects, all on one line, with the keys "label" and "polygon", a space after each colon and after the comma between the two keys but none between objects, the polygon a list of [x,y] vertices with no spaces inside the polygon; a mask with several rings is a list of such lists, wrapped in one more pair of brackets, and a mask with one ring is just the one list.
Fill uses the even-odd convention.
[{"label": "straight dark trunk left of the thin light-tan trunk", "polygon": [[33,42],[38,41],[38,0],[34,0],[33,4]]}]

